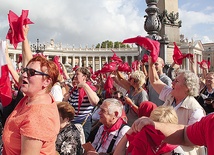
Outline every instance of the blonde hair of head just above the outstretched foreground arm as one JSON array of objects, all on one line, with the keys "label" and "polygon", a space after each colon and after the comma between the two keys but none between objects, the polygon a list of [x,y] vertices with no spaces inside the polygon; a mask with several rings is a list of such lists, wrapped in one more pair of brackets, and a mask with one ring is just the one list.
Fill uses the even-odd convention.
[{"label": "blonde hair of head just above the outstretched foreground arm", "polygon": [[178,116],[172,106],[159,106],[151,112],[150,118],[161,123],[178,124]]}]

